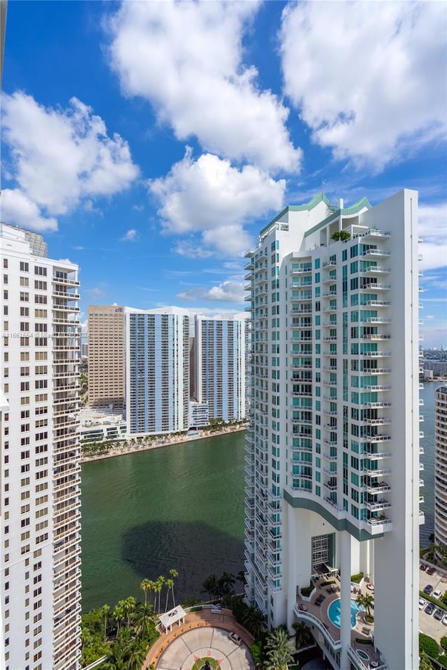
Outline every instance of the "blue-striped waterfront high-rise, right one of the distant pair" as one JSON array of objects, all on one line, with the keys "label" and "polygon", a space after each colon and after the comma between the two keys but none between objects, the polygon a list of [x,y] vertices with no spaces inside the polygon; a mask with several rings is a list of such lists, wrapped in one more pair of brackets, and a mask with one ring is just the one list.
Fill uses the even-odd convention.
[{"label": "blue-striped waterfront high-rise, right one of the distant pair", "polygon": [[245,315],[232,319],[196,316],[196,399],[208,403],[210,419],[245,418]]}]

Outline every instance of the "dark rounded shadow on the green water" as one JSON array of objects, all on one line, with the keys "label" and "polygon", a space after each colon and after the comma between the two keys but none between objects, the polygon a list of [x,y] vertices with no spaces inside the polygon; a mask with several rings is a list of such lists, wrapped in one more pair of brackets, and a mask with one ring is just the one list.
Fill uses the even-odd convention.
[{"label": "dark rounded shadow on the green water", "polygon": [[[200,600],[207,597],[202,589],[207,576],[223,572],[236,576],[244,569],[244,543],[201,521],[155,521],[135,526],[123,535],[122,560],[140,581],[145,577],[155,580],[161,574],[168,577],[169,570],[175,568],[179,573],[174,587],[176,602],[191,595]],[[162,605],[166,589],[163,594]]]}]

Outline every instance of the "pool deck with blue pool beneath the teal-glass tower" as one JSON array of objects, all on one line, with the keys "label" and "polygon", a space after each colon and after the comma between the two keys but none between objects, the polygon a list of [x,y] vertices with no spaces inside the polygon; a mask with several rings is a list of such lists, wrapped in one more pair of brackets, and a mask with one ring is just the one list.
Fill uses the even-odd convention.
[{"label": "pool deck with blue pool beneath the teal-glass tower", "polygon": [[[325,581],[325,579],[321,579],[321,581]],[[296,604],[297,607],[295,609],[295,613],[300,618],[301,620],[307,621],[307,623],[314,624],[314,618],[317,618],[322,626],[323,630],[321,630],[321,627],[317,628],[318,630],[315,630],[315,626],[313,625],[312,628],[314,629],[312,632],[314,636],[320,634],[328,637],[330,643],[337,643],[340,641],[340,629],[338,626],[335,626],[332,621],[330,620],[328,616],[328,609],[329,606],[332,602],[335,600],[338,600],[340,597],[340,581],[339,578],[337,577],[336,579],[334,578],[328,578],[326,581],[335,581],[335,583],[331,584],[330,586],[321,586],[320,585],[320,580],[318,581],[313,581],[315,590],[312,593],[312,596],[308,600],[307,598],[302,598],[300,597],[300,594],[297,594],[296,598]],[[352,584],[351,585],[351,598],[352,600],[357,600],[358,596],[360,594],[365,595],[366,593],[369,593],[369,595],[374,594],[374,590],[370,590],[367,588],[366,583],[364,580],[360,584]],[[321,602],[320,605],[316,603],[318,597],[321,599],[321,597],[324,597],[323,602]],[[305,607],[306,610],[303,611],[301,610],[301,607]],[[310,616],[308,616],[310,615]],[[374,652],[374,647],[372,644],[368,644],[367,640],[372,641],[372,636],[374,634],[374,624],[369,624],[365,622],[365,612],[360,611],[357,616],[356,616],[356,625],[353,627],[351,630],[351,648],[356,652],[357,650],[361,650],[369,656],[369,661],[365,661],[365,663],[362,662],[361,659],[360,663],[363,664],[365,667],[365,670],[369,668],[369,664],[371,662],[377,663],[378,667],[381,667],[381,660],[380,657]],[[361,639],[365,640],[365,643],[359,643],[356,641],[356,639]],[[357,656],[358,658],[358,656]]]}]

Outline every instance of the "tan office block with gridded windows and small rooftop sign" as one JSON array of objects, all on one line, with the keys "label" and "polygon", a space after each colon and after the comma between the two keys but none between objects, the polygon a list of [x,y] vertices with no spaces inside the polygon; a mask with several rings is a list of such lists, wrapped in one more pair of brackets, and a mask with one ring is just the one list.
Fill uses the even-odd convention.
[{"label": "tan office block with gridded windows and small rooftop sign", "polygon": [[126,347],[124,308],[89,306],[89,392],[91,408],[124,412]]}]

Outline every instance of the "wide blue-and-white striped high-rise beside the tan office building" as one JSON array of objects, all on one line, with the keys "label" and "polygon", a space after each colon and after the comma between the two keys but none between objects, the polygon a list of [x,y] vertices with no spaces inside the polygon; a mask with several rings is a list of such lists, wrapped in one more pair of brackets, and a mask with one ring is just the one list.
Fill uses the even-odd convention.
[{"label": "wide blue-and-white striped high-rise beside the tan office building", "polygon": [[189,428],[189,315],[170,307],[126,308],[126,420],[129,435]]}]

